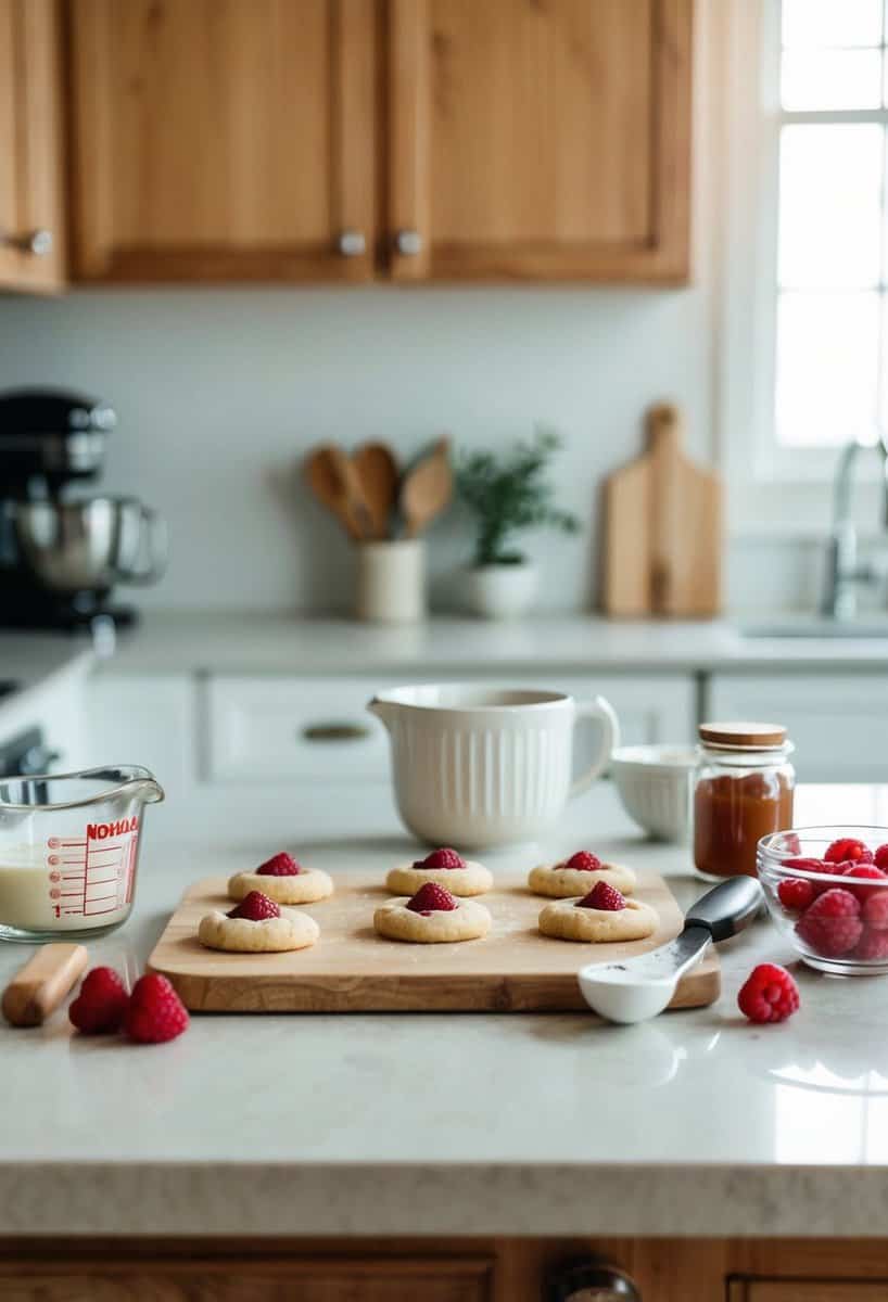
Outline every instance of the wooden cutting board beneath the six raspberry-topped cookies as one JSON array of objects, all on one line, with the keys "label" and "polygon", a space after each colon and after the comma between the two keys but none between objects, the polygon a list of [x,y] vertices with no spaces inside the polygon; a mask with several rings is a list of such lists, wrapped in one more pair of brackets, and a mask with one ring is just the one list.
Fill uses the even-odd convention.
[{"label": "wooden cutting board beneath the six raspberry-topped cookies", "polygon": [[[568,1012],[586,1009],[577,971],[583,963],[629,958],[678,934],[682,915],[660,876],[642,876],[638,897],[652,904],[660,927],[650,940],[581,945],[540,936],[536,917],[546,902],[504,878],[484,896],[493,927],[484,940],[413,945],[384,940],[372,930],[376,905],[389,892],[376,878],[341,876],[336,893],[306,913],[320,926],[311,949],[289,954],[225,954],[197,940],[211,909],[230,909],[224,878],[186,891],[148,961],[173,983],[187,1008],[219,1013],[363,1012]],[[671,1008],[698,1008],[719,996],[714,950],[685,975]]]}]

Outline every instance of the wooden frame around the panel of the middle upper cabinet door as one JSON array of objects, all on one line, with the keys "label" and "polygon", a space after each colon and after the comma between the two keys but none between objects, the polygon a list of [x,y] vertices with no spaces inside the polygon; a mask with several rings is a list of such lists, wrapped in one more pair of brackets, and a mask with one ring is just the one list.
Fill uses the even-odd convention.
[{"label": "wooden frame around the panel of the middle upper cabinet door", "polygon": [[[74,266],[102,281],[361,281],[374,272],[376,241],[376,35],[371,0],[329,0],[331,238],[280,247],[202,243],[125,245],[115,233],[111,10],[120,0],[70,0],[74,150]],[[355,230],[366,249],[342,256],[339,232]]]}]

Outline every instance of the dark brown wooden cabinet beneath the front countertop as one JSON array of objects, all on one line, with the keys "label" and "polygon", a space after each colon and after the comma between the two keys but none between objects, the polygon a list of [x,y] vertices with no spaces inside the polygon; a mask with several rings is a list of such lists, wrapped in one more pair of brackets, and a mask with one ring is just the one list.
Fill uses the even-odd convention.
[{"label": "dark brown wooden cabinet beneath the front countertop", "polygon": [[0,1241],[0,1302],[884,1302],[887,1240]]}]

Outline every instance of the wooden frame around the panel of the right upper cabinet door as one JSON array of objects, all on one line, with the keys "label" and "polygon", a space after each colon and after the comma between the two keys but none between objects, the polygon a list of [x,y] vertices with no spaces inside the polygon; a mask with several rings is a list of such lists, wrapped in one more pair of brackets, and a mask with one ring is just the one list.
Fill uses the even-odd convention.
[{"label": "wooden frame around the panel of the right upper cabinet door", "polygon": [[[594,280],[680,284],[689,275],[693,0],[651,0],[650,233],[637,243],[439,243],[432,229],[430,0],[389,0],[387,130],[393,280]],[[590,202],[591,197],[590,197]],[[400,230],[418,253],[398,253]]]}]

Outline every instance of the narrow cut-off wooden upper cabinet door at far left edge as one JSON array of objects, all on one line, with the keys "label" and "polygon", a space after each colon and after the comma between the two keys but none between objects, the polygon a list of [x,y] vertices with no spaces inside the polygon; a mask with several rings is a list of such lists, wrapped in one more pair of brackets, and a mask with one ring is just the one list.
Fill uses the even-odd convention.
[{"label": "narrow cut-off wooden upper cabinet door at far left edge", "polygon": [[56,0],[0,0],[0,286],[59,289],[64,271]]}]

